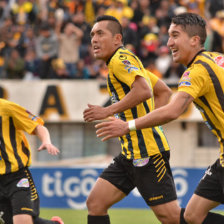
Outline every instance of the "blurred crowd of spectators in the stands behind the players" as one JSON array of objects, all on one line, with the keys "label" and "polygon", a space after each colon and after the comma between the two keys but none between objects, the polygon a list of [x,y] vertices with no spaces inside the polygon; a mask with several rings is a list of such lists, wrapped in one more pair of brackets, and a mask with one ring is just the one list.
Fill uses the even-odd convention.
[{"label": "blurred crowd of spectators in the stands behind the players", "polygon": [[1,79],[106,79],[95,60],[90,30],[97,16],[115,16],[124,45],[160,78],[177,80],[184,67],[166,46],[173,15],[206,18],[205,48],[224,52],[223,0],[0,0]]}]

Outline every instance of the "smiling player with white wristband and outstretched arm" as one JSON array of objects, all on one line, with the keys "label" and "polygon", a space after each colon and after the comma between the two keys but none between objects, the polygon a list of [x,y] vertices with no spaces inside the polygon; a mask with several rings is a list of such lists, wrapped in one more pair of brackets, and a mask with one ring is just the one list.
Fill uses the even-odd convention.
[{"label": "smiling player with white wristband and outstretched arm", "polygon": [[[111,121],[96,127],[98,137],[103,137],[104,141],[175,120],[193,102],[220,143],[220,157],[202,177],[186,207],[184,218],[191,224],[221,224],[224,217],[209,211],[224,203],[224,56],[206,51],[205,39],[206,23],[199,15],[184,13],[172,18],[167,45],[174,62],[187,66],[176,96],[167,105],[135,121],[110,118]],[[181,217],[181,223],[185,221]]]}]

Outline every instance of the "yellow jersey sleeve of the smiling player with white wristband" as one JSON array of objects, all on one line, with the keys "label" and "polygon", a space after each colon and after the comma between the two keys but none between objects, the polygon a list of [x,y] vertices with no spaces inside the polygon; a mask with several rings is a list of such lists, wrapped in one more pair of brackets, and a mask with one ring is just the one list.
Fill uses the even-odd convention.
[{"label": "yellow jersey sleeve of the smiling player with white wristband", "polygon": [[194,99],[200,97],[209,90],[207,71],[203,67],[186,70],[179,83],[178,91],[190,94]]}]

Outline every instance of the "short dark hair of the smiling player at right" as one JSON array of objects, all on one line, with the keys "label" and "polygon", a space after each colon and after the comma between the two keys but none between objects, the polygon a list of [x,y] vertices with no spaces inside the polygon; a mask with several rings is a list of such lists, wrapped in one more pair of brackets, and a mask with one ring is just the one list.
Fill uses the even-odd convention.
[{"label": "short dark hair of the smiling player at right", "polygon": [[195,13],[181,13],[172,18],[172,23],[180,25],[190,36],[199,36],[203,46],[207,37],[205,20]]}]

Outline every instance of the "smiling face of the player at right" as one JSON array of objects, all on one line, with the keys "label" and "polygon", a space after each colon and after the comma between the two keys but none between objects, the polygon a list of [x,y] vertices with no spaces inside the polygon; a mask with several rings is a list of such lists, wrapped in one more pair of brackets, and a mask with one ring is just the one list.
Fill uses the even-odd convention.
[{"label": "smiling face of the player at right", "polygon": [[173,61],[188,65],[195,53],[191,45],[191,38],[180,25],[171,24],[169,28],[169,40],[167,46],[170,48]]}]

